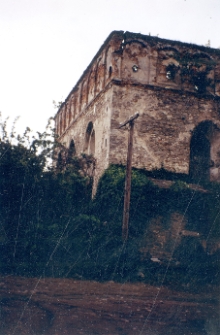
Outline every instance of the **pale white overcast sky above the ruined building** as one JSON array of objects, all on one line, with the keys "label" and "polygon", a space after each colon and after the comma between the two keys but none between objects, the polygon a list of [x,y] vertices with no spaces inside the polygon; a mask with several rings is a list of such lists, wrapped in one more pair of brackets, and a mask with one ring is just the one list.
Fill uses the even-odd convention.
[{"label": "pale white overcast sky above the ruined building", "polygon": [[112,30],[220,47],[220,0],[0,0],[0,111],[43,131]]}]

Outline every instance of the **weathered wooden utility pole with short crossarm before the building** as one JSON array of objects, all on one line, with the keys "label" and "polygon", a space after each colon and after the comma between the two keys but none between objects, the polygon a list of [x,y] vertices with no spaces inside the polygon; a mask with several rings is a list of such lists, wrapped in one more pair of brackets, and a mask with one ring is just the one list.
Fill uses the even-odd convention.
[{"label": "weathered wooden utility pole with short crossarm before the building", "polygon": [[123,222],[122,222],[122,239],[124,241],[128,239],[128,222],[129,222],[130,199],[131,199],[131,171],[132,171],[134,120],[137,119],[138,116],[139,114],[136,113],[119,126],[119,128],[122,128],[126,126],[126,124],[129,124],[127,166],[126,166],[125,193],[124,193],[124,210],[123,210]]}]

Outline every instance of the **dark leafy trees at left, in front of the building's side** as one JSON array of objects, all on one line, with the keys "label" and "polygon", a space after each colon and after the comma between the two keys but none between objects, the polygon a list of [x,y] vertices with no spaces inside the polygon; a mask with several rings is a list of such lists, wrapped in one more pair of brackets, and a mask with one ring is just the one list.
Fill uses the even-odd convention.
[{"label": "dark leafy trees at left, in front of the building's side", "polygon": [[16,136],[0,126],[1,270],[35,275],[90,201],[90,179],[77,159],[63,170],[48,166],[59,145],[48,129],[31,137],[29,128]]}]

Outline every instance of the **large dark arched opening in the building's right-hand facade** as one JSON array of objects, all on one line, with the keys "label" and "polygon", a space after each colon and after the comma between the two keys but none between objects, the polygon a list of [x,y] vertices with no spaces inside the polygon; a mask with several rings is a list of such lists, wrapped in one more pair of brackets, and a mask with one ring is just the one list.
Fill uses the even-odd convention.
[{"label": "large dark arched opening in the building's right-hand facade", "polygon": [[213,123],[204,121],[195,128],[191,138],[189,174],[196,183],[210,180],[213,130]]}]

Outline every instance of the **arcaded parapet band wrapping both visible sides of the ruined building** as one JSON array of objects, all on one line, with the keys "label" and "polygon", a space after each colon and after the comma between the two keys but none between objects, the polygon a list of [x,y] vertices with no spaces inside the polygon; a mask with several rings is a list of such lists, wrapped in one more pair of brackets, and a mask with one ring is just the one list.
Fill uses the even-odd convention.
[{"label": "arcaded parapet band wrapping both visible sides of the ruined building", "polygon": [[59,136],[111,80],[220,96],[220,51],[112,32],[60,107]]}]

